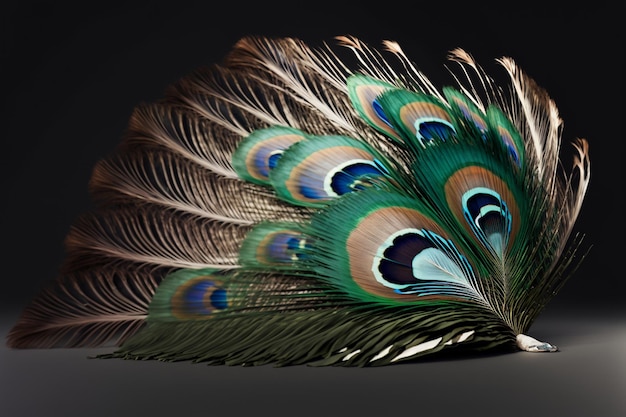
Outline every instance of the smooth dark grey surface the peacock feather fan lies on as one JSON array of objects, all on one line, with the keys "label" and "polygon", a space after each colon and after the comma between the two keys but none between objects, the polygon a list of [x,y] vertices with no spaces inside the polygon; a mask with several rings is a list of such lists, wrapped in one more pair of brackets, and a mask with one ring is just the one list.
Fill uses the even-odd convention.
[{"label": "smooth dark grey surface the peacock feather fan lies on", "polygon": [[[3,335],[14,318],[3,317]],[[382,368],[249,368],[88,358],[107,348],[2,347],[0,415],[626,415],[623,315],[546,314],[529,333],[560,351]]]}]

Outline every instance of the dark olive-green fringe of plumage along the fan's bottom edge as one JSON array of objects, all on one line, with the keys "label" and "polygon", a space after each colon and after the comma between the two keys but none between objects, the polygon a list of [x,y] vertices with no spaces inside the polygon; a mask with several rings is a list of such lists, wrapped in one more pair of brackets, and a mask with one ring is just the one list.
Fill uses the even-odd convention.
[{"label": "dark olive-green fringe of plumage along the fan's bottom edge", "polygon": [[[463,315],[473,319],[459,320]],[[481,324],[479,330],[476,323]],[[398,356],[434,334],[441,336],[429,354],[448,346],[454,350],[453,343],[446,343],[464,334],[465,345],[456,350],[506,351],[515,346],[515,334],[502,321],[462,305],[441,303],[419,309],[353,306],[242,314],[210,322],[150,323],[120,349],[100,357],[231,366],[382,366],[415,359],[419,354]]]}]

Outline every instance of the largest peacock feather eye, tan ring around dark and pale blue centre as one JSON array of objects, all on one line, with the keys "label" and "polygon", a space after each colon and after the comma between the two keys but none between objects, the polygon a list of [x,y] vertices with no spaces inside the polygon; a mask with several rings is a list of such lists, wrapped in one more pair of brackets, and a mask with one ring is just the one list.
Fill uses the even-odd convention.
[{"label": "largest peacock feather eye, tan ring around dark and pale blue centre", "polygon": [[[346,285],[390,301],[482,302],[472,264],[446,231],[412,208],[414,200],[386,201],[384,194],[355,193],[337,206],[345,216],[359,218],[345,241],[350,277]],[[379,208],[371,210],[369,204]],[[329,226],[320,224],[319,232],[326,235]]]}]

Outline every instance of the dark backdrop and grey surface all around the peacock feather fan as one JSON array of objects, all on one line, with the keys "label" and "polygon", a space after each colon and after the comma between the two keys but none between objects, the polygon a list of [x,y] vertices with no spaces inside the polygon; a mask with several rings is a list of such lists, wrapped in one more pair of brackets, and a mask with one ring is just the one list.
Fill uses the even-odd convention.
[{"label": "dark backdrop and grey surface all around the peacock feather fan", "polygon": [[91,207],[91,169],[119,142],[134,106],[160,98],[193,69],[218,62],[242,36],[296,36],[320,44],[350,34],[372,45],[398,41],[436,82],[448,80],[443,64],[452,48],[466,49],[496,72],[493,60],[511,56],[559,106],[565,153],[570,155],[575,137],[589,140],[592,181],[576,231],[593,248],[532,329],[561,352],[350,370],[91,361],[86,356],[92,351],[2,348],[0,415],[243,409],[286,415],[466,410],[516,416],[532,409],[552,416],[624,415],[621,12],[598,1],[588,9],[420,3],[406,3],[409,9],[389,2],[375,8],[337,2],[3,6],[2,335],[56,275],[71,223]]}]

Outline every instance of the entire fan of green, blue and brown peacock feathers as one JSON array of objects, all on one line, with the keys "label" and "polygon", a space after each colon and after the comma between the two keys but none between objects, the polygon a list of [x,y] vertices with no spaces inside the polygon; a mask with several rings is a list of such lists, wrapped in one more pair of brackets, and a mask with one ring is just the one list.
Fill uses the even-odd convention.
[{"label": "entire fan of green, blue and brown peacock feathers", "polygon": [[8,345],[276,366],[556,350],[525,332],[584,257],[587,142],[567,172],[555,104],[510,58],[503,88],[453,50],[438,89],[395,42],[336,40],[243,38],[138,106]]}]

